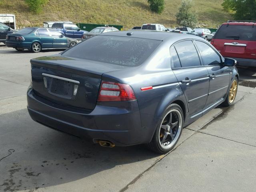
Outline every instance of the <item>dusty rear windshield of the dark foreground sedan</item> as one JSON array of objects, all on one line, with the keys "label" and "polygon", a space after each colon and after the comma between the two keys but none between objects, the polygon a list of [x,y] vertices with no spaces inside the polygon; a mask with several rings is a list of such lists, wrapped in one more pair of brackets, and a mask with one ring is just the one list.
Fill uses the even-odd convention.
[{"label": "dusty rear windshield of the dark foreground sedan", "polygon": [[121,66],[138,66],[160,43],[151,39],[98,35],[77,44],[62,55]]}]

